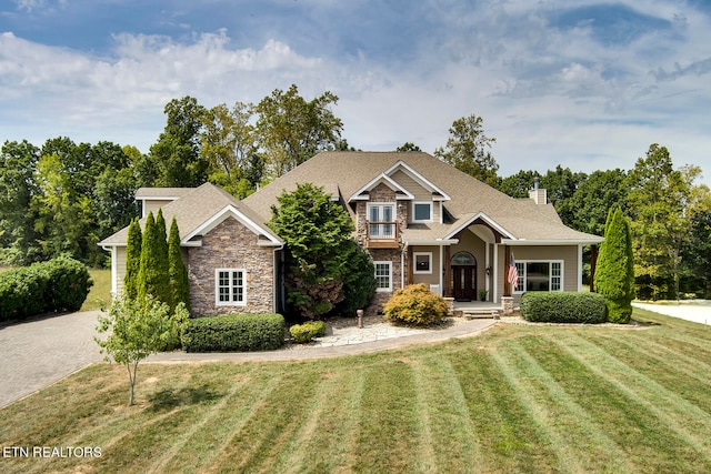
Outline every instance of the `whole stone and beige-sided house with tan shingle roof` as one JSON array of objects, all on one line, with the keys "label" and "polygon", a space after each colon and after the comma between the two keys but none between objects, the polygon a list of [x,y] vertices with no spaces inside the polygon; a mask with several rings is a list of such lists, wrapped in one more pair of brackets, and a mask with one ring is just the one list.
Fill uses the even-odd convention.
[{"label": "whole stone and beige-sided house with tan shingle roof", "polygon": [[[583,245],[602,241],[565,226],[538,185],[530,199],[513,199],[420,152],[323,152],[242,201],[209,183],[142,188],[143,215],[162,208],[167,222],[178,221],[194,314],[281,310],[284,242],[266,223],[277,196],[306,182],[351,215],[374,263],[374,307],[409,283],[492,303],[580,291]],[[100,243],[111,251],[113,292],[123,283],[127,235]],[[515,288],[507,281],[512,253]]]}]

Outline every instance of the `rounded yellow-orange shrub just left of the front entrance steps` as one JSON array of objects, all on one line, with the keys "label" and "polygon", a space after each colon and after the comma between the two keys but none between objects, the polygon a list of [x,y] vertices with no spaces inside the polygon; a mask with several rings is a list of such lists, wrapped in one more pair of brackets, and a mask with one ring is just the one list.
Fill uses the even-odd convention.
[{"label": "rounded yellow-orange shrub just left of the front entrance steps", "polygon": [[438,323],[449,311],[444,299],[432,293],[424,283],[395,291],[382,309],[385,320],[413,325]]}]

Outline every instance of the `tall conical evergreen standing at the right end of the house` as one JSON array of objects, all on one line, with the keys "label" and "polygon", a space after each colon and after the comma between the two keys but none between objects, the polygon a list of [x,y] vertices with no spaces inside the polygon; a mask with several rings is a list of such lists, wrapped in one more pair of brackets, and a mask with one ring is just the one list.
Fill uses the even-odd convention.
[{"label": "tall conical evergreen standing at the right end of the house", "polygon": [[595,271],[595,291],[608,306],[608,321],[628,323],[634,299],[634,262],[630,222],[617,208],[608,214],[604,242],[600,245]]}]

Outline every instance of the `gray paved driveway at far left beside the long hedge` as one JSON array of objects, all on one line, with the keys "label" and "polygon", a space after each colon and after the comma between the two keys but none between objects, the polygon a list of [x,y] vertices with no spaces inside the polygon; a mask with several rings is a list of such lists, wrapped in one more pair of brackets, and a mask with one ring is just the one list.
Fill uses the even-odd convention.
[{"label": "gray paved driveway at far left beside the long hedge", "polygon": [[99,311],[0,325],[0,407],[103,356],[93,342]]}]

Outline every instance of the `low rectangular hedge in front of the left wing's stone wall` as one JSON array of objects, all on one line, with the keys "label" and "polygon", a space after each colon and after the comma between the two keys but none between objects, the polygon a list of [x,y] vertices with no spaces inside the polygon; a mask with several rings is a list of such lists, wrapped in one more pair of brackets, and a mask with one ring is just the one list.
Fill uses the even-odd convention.
[{"label": "low rectangular hedge in front of the left wing's stone wall", "polygon": [[230,314],[188,321],[181,336],[186,352],[270,351],[284,343],[281,314]]}]

